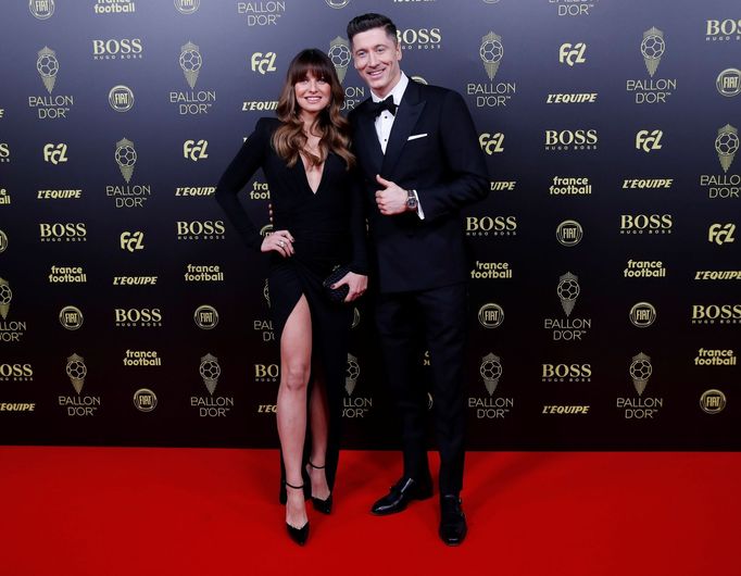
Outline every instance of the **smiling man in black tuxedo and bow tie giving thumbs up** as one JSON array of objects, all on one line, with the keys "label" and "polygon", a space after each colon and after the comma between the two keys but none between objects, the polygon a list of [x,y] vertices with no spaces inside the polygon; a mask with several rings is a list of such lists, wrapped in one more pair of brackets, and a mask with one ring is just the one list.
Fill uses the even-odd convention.
[{"label": "smiling man in black tuxedo and bow tie giving thumbs up", "polygon": [[440,538],[466,535],[463,485],[466,256],[460,210],[486,197],[489,175],[463,98],[401,72],[397,27],[380,14],[348,24],[355,68],[372,98],[350,114],[379,288],[376,323],[402,425],[404,471],[374,514],[432,496],[425,446],[427,395],[415,378],[418,343],[430,351],[440,450]]}]

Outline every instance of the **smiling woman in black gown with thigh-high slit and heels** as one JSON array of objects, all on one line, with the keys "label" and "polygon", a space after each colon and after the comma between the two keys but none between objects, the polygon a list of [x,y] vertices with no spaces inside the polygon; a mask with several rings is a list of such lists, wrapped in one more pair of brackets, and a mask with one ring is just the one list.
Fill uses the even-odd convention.
[{"label": "smiling woman in black gown with thigh-high slit and heels", "polygon": [[[331,302],[322,283],[335,266],[349,264],[351,272],[335,284],[348,286],[344,301],[367,287],[365,221],[349,125],[340,114],[343,98],[327,55],[300,52],[288,68],[278,118],[258,121],[215,192],[244,242],[272,258],[271,314],[280,342],[280,501],[288,534],[299,544],[309,536],[305,493],[317,511],[331,509],[352,323],[351,308]],[[275,229],[264,239],[237,199],[258,168],[273,204]]]}]

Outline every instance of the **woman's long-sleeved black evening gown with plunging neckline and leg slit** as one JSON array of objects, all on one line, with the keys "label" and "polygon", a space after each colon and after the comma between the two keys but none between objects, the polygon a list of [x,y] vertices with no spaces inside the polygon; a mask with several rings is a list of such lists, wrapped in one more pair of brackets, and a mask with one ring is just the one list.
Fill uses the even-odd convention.
[{"label": "woman's long-sleeved black evening gown with plunging neckline and leg slit", "polygon": [[[312,318],[312,366],[321,367],[327,388],[329,438],[326,475],[332,489],[339,458],[352,306],[330,302],[324,295],[322,283],[337,265],[349,264],[353,272],[367,274],[363,200],[355,173],[348,171],[344,161],[334,153],[327,156],[322,180],[314,192],[301,160],[289,167],[273,149],[272,136],[279,125],[275,118],[258,121],[254,132],[222,176],[215,197],[244,243],[259,251],[263,238],[237,193],[262,168],[271,190],[273,227],[276,230],[287,229],[294,238],[292,256],[282,258],[277,252],[269,252],[271,317],[276,341],[280,342],[288,316],[301,295],[306,297]],[[313,383],[313,375],[311,380]],[[309,417],[306,426],[304,464],[311,448]],[[282,459],[280,464],[281,479],[285,479]],[[304,489],[310,493],[304,468],[302,465]],[[281,488],[281,500],[284,490]]]}]

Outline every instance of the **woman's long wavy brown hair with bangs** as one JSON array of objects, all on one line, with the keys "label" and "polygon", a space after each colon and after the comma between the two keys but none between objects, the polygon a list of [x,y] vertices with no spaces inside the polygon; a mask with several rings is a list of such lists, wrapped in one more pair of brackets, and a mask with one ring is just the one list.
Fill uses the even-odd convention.
[{"label": "woman's long wavy brown hair with bangs", "polygon": [[[311,128],[313,134],[321,137],[318,155],[306,148],[301,108],[293,89],[298,82],[307,76],[328,82],[331,88],[329,105],[319,112]],[[350,123],[340,114],[343,101],[342,85],[327,54],[315,48],[299,52],[288,66],[286,83],[278,99],[277,114],[281,125],[273,134],[273,148],[278,155],[291,167],[299,161],[300,154],[311,165],[319,166],[329,152],[335,152],[344,160],[348,170],[354,166],[355,156],[350,152]]]}]

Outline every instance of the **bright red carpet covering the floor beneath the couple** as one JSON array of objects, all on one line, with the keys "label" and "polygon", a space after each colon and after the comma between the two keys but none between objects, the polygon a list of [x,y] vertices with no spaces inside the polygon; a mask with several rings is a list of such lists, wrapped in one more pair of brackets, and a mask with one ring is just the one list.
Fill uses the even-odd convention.
[{"label": "bright red carpet covering the floor beneath the couple", "polygon": [[[342,453],[336,509],[288,540],[267,450],[0,448],[2,576],[739,575],[738,453],[470,453],[460,548],[437,499],[375,517],[389,452]],[[437,464],[436,464],[437,465]]]}]

